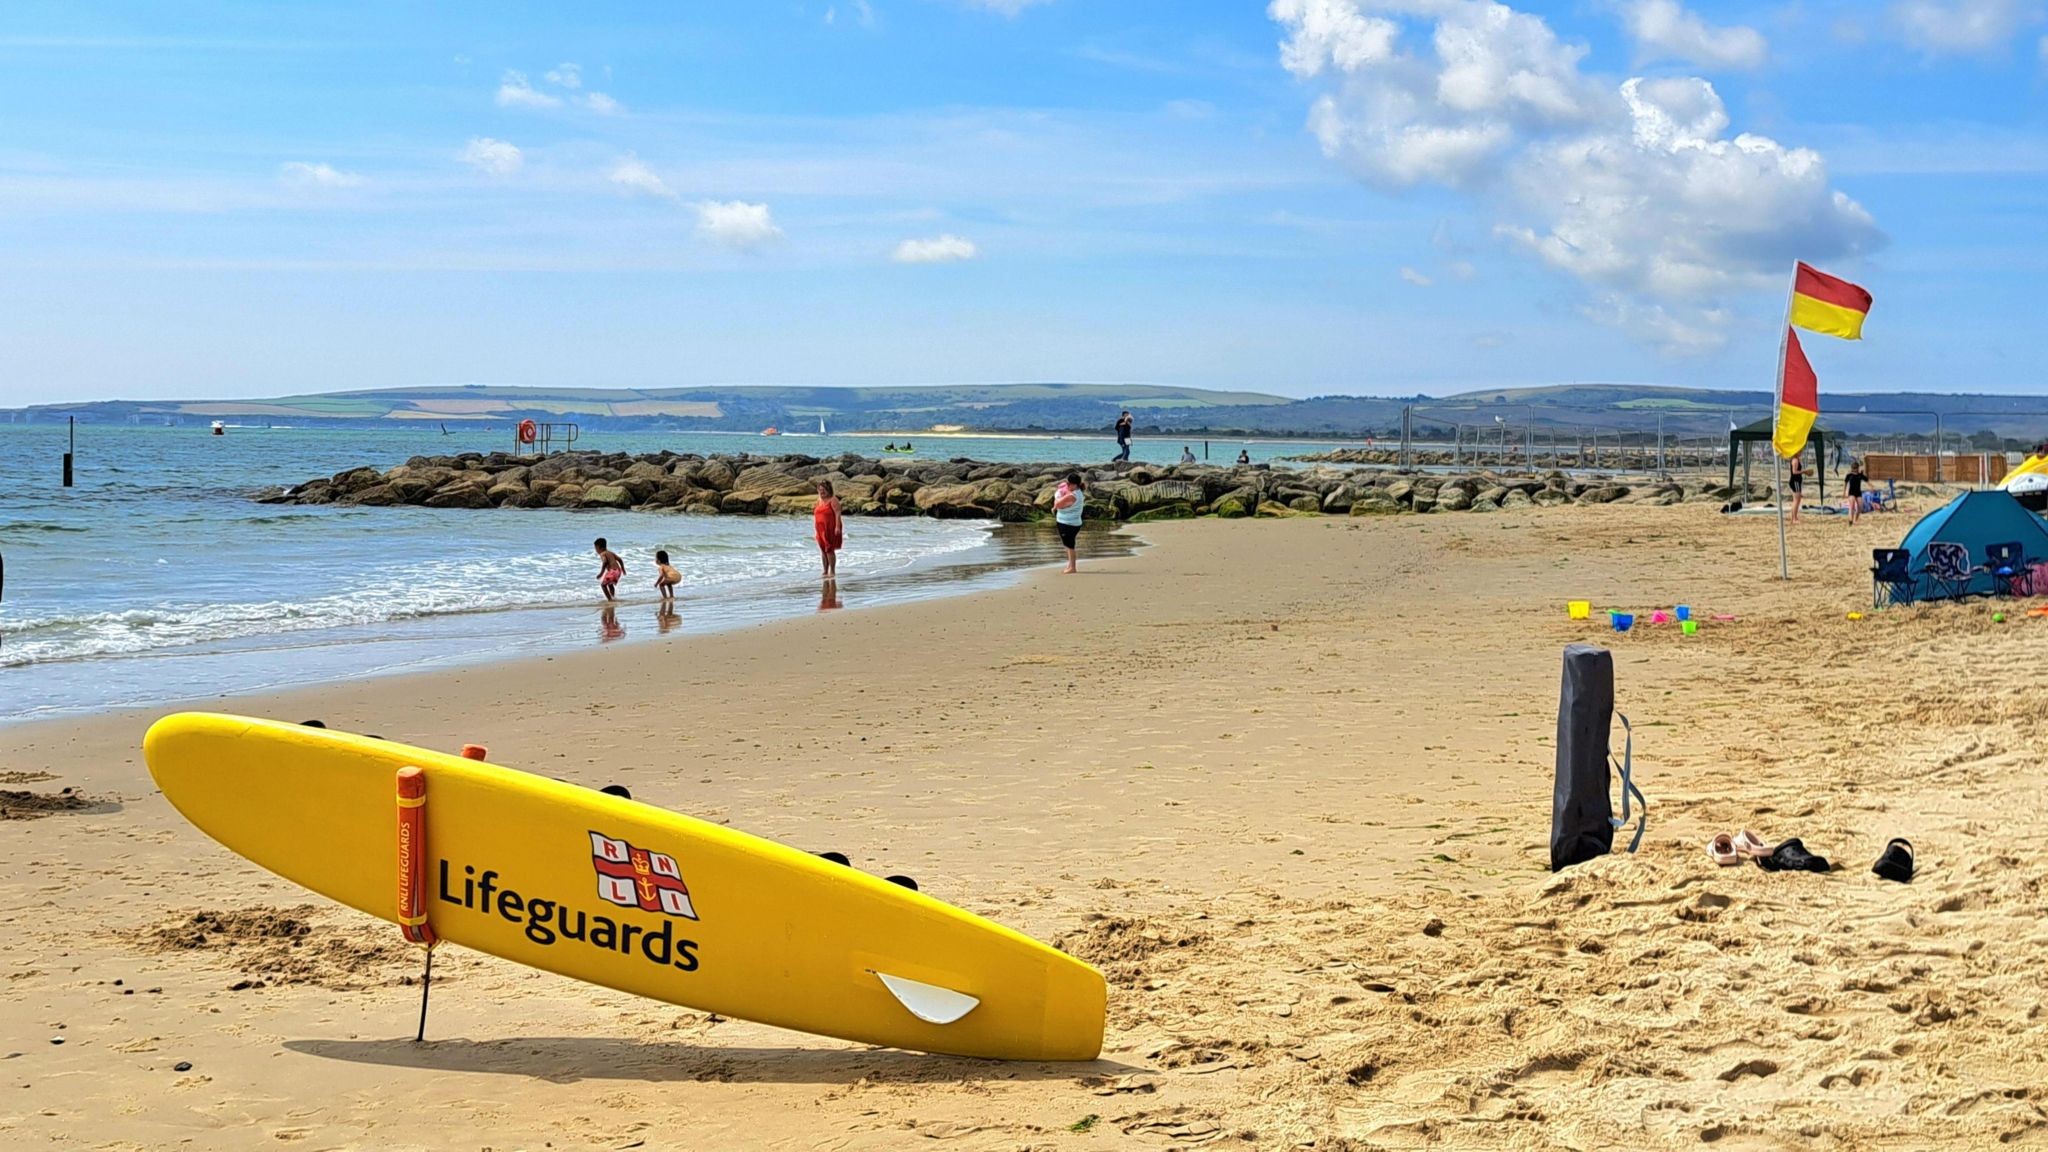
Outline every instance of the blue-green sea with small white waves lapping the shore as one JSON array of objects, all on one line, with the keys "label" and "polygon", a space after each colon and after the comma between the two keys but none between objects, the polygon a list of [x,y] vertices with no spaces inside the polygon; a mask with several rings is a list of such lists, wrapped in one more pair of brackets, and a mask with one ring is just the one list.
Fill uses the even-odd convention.
[{"label": "blue-green sea with small white waves lapping the shore", "polygon": [[[76,435],[74,486],[61,457]],[[879,455],[903,437],[586,433],[592,451]],[[1087,437],[920,437],[920,459],[1096,461]],[[0,724],[199,701],[596,644],[688,637],[819,611],[958,594],[1053,564],[1051,533],[854,519],[825,588],[807,519],[674,512],[338,508],[256,494],[414,455],[504,451],[502,426],[0,424]],[[1184,441],[1145,441],[1169,463]],[[1346,447],[1194,441],[1255,461]],[[627,562],[606,611],[590,541]],[[1102,547],[1128,547],[1104,539]],[[676,611],[653,551],[682,572]]]}]

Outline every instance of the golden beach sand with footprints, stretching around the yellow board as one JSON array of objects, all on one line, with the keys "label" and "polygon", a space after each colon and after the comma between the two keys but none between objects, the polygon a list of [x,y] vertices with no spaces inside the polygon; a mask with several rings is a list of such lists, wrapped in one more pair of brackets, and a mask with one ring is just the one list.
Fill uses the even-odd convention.
[{"label": "golden beach sand with footprints, stretching around the yellow board", "polygon": [[[1774,521],[1700,504],[1143,525],[1081,576],[227,705],[907,871],[1104,970],[1087,1066],[453,947],[414,1045],[418,953],[184,824],[152,715],[0,730],[0,787],[76,789],[0,822],[0,1144],[2048,1146],[2048,621],[1847,621],[1911,521],[1798,525],[1788,584]],[[1651,822],[1550,875],[1575,640],[1616,650]],[[1745,826],[1839,871],[1714,867]],[[1913,886],[1868,871],[1890,836]]]}]

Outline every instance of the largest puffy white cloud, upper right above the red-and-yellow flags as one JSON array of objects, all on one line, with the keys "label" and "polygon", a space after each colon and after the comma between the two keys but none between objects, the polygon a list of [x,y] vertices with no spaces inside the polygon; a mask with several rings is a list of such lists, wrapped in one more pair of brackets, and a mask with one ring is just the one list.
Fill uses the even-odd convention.
[{"label": "largest puffy white cloud, upper right above the red-and-yellow flags", "polygon": [[[1731,293],[1794,258],[1878,248],[1812,150],[1729,135],[1698,78],[1581,70],[1585,51],[1497,0],[1272,0],[1309,127],[1362,178],[1464,191],[1495,238],[1581,281],[1587,314],[1675,353],[1714,346]],[[1389,29],[1382,29],[1389,25]]]}]

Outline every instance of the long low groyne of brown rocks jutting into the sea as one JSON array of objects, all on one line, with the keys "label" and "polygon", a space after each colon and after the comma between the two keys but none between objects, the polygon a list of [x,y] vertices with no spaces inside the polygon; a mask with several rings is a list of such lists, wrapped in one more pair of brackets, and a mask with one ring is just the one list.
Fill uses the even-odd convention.
[{"label": "long low groyne of brown rocks jutting into the sea", "polygon": [[1571,478],[1550,474],[1423,474],[1253,465],[1067,465],[973,459],[872,459],[860,455],[625,455],[514,457],[463,453],[414,457],[389,471],[356,467],[291,490],[274,504],[426,508],[641,508],[684,515],[805,515],[817,480],[831,480],[852,517],[1042,521],[1067,471],[1087,478],[1087,517],[1167,521],[1190,517],[1495,512],[1559,504],[1679,504],[1767,498],[1767,488],[1706,480]]}]

